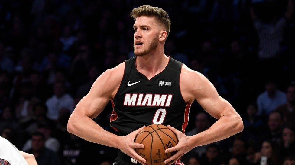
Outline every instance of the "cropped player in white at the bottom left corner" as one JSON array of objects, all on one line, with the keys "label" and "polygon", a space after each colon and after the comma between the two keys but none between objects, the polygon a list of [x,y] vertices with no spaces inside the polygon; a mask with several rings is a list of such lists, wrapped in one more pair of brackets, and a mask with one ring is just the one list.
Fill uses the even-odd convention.
[{"label": "cropped player in white at the bottom left corner", "polygon": [[0,164],[37,165],[33,154],[19,151],[11,142],[0,136]]}]

